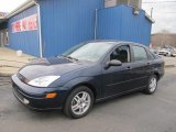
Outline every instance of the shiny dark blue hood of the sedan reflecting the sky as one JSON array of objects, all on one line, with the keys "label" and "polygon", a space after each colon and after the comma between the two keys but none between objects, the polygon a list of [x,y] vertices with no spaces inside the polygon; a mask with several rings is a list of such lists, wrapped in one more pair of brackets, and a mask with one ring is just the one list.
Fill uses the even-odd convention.
[{"label": "shiny dark blue hood of the sedan reflecting the sky", "polygon": [[38,58],[22,67],[19,73],[28,80],[32,80],[43,76],[62,76],[86,67],[85,63],[72,62],[66,58]]}]

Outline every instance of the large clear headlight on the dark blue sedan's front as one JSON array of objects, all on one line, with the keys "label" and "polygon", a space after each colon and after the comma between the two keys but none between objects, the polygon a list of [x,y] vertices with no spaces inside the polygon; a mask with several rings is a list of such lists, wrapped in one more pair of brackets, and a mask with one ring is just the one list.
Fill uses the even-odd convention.
[{"label": "large clear headlight on the dark blue sedan's front", "polygon": [[35,87],[48,87],[53,81],[61,78],[61,76],[44,76],[29,81],[28,84]]}]

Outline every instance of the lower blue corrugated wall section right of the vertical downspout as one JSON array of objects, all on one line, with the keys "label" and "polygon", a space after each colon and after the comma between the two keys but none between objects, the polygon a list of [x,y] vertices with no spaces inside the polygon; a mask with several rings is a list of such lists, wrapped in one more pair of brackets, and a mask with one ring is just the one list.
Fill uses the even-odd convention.
[{"label": "lower blue corrugated wall section right of the vertical downspout", "polygon": [[98,40],[120,40],[150,45],[152,23],[145,12],[133,14],[133,8],[118,6],[98,11]]}]

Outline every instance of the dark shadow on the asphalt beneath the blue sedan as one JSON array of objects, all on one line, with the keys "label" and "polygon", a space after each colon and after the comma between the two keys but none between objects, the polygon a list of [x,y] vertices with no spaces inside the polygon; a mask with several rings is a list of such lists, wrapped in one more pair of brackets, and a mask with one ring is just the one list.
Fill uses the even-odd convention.
[{"label": "dark shadow on the asphalt beneath the blue sedan", "polygon": [[[141,91],[135,91],[129,95],[120,96],[120,97],[114,97],[105,101],[100,101],[95,103],[94,109],[91,110],[91,113],[97,112],[101,109],[106,109],[107,107],[111,108],[114,103],[122,102],[124,100],[129,100],[131,98],[135,98],[139,96],[142,96],[143,94]],[[28,108],[24,108],[25,111]],[[47,111],[33,111],[33,110],[28,110],[29,114],[28,118],[31,118],[32,120],[42,120],[42,121],[50,121],[50,120],[62,120],[62,121],[68,121],[70,120],[67,118],[62,110],[47,110]]]}]

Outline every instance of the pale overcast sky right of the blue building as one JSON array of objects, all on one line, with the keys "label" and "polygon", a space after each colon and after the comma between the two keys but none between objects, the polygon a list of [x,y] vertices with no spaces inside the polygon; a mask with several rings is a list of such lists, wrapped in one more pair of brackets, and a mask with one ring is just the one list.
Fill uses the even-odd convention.
[{"label": "pale overcast sky right of the blue building", "polygon": [[153,8],[152,33],[166,30],[176,33],[176,0],[143,0],[142,9],[151,14]]}]

